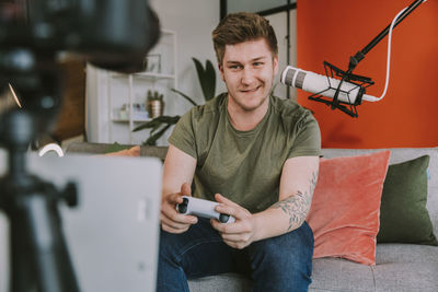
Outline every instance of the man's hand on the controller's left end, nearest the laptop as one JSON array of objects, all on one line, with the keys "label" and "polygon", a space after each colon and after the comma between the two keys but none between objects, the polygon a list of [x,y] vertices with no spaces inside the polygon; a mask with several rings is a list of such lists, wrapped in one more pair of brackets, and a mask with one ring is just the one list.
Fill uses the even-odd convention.
[{"label": "man's hand on the controller's left end, nearest the laptop", "polygon": [[186,232],[198,219],[194,215],[181,214],[176,211],[176,203],[183,202],[182,196],[191,196],[191,186],[184,183],[181,192],[169,194],[161,201],[161,227],[170,233]]}]

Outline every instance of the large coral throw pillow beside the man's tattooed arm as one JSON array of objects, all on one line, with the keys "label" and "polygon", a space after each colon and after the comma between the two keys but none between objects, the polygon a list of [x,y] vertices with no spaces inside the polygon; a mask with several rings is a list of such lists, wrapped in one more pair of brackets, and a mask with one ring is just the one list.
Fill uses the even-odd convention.
[{"label": "large coral throw pillow beside the man's tattooed arm", "polygon": [[308,223],[313,258],[341,257],[376,264],[380,199],[390,151],[322,159]]}]

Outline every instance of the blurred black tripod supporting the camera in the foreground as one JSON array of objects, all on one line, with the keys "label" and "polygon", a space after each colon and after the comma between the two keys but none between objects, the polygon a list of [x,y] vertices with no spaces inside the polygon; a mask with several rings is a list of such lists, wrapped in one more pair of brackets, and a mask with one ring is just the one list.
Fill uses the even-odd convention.
[{"label": "blurred black tripod supporting the camera in the foreground", "polygon": [[26,171],[26,150],[44,115],[21,109],[0,115],[0,145],[9,154],[9,172],[0,178],[0,210],[10,222],[10,291],[77,292],[58,211],[60,200],[77,205],[76,186],[69,183],[58,191]]}]

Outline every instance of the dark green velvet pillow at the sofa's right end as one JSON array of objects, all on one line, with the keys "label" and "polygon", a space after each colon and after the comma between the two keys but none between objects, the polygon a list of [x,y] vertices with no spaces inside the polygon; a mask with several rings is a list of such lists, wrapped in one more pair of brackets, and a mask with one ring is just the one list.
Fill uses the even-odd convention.
[{"label": "dark green velvet pillow at the sofa's right end", "polygon": [[383,183],[378,243],[438,245],[426,209],[429,155],[392,164]]}]

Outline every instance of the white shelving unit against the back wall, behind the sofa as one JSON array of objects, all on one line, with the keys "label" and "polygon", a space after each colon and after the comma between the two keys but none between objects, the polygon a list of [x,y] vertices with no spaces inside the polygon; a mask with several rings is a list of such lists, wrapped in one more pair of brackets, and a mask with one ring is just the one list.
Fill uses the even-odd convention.
[{"label": "white shelving unit against the back wall, behind the sofa", "polygon": [[[177,89],[176,80],[176,34],[169,30],[162,30],[159,44],[148,56],[159,56],[160,63],[154,63],[153,72],[139,72],[123,74],[112,71],[88,68],[95,77],[90,78],[90,83],[95,83],[95,92],[88,90],[88,95],[97,95],[97,108],[91,109],[97,114],[97,127],[94,127],[94,142],[118,142],[124,144],[140,144],[149,137],[149,130],[132,132],[141,122],[151,120],[147,116],[146,102],[148,91],[158,91],[164,95],[164,115],[174,115],[175,94],[171,89]],[[89,84],[88,87],[92,85]],[[103,110],[101,107],[106,108]],[[136,110],[140,109],[140,110]],[[106,115],[105,115],[106,112]],[[89,131],[90,136],[90,131]],[[161,144],[164,141],[158,141]]]}]

